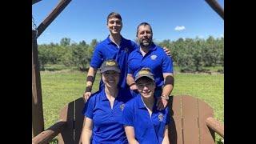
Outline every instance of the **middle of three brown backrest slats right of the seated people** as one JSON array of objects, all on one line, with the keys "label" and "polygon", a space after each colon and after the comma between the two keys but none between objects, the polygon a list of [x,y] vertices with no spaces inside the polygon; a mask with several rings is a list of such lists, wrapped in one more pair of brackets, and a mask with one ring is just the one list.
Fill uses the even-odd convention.
[{"label": "middle of three brown backrest slats right of the seated people", "polygon": [[182,96],[182,117],[184,144],[198,144],[198,102],[196,98]]}]

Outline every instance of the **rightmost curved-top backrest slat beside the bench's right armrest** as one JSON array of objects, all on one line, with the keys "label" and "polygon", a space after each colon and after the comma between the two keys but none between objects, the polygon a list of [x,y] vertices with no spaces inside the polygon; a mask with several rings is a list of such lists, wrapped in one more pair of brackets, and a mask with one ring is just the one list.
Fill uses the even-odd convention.
[{"label": "rightmost curved-top backrest slat beside the bench's right armrest", "polygon": [[198,99],[198,114],[200,143],[214,144],[214,130],[210,130],[208,126],[206,126],[206,119],[209,117],[214,117],[214,110],[208,104],[206,104],[206,102],[202,102]]}]

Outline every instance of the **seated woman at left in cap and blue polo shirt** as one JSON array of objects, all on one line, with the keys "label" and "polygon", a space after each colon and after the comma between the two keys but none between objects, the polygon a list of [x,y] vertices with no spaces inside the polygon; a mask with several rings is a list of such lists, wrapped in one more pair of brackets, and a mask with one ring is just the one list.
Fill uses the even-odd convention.
[{"label": "seated woman at left in cap and blue polo shirt", "polygon": [[106,60],[100,67],[104,89],[92,94],[85,104],[82,143],[128,143],[122,120],[122,110],[130,94],[118,87],[118,62]]}]

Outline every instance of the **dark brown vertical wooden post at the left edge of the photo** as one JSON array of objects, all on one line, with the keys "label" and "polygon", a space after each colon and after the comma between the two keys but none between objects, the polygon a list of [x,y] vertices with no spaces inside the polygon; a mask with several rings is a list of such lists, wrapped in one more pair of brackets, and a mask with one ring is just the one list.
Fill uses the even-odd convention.
[{"label": "dark brown vertical wooden post at the left edge of the photo", "polygon": [[44,130],[42,112],[42,90],[38,62],[38,43],[36,31],[32,30],[32,136]]}]

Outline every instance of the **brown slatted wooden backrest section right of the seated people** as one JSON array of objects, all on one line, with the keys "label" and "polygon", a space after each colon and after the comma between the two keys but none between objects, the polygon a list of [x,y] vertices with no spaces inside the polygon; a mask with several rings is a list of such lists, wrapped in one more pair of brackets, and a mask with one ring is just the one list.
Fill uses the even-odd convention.
[{"label": "brown slatted wooden backrest section right of the seated people", "polygon": [[198,98],[188,95],[170,97],[169,138],[172,144],[214,144],[214,131],[206,126],[206,118],[214,110]]}]

